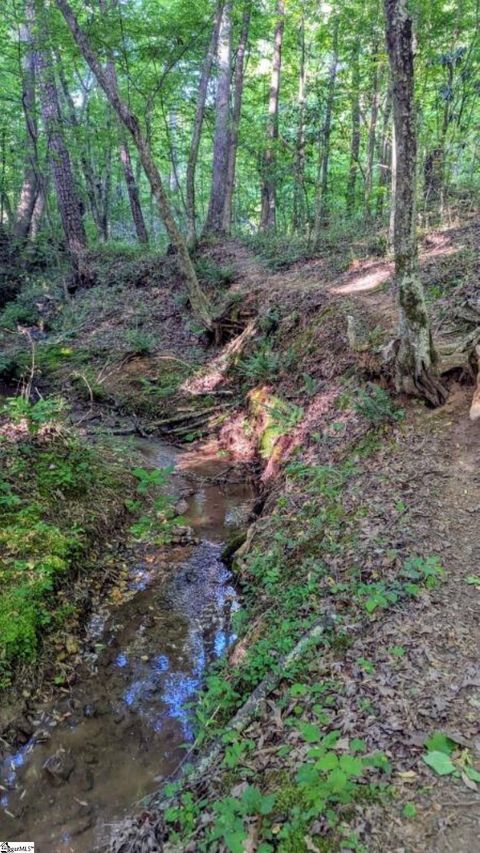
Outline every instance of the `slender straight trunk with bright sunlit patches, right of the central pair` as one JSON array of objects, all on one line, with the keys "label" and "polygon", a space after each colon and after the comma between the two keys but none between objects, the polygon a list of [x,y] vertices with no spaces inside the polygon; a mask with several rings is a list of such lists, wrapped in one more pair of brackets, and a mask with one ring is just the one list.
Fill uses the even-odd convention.
[{"label": "slender straight trunk with bright sunlit patches, right of the central pair", "polygon": [[278,139],[278,106],[282,71],[282,44],[285,29],[285,0],[277,0],[277,25],[273,39],[272,76],[268,99],[267,147],[263,157],[262,209],[260,229],[274,231],[277,218],[276,143]]}]

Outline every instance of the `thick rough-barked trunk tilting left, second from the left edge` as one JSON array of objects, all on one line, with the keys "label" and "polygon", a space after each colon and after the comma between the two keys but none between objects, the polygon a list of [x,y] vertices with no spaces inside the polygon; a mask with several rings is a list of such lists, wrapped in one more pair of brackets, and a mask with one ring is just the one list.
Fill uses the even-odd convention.
[{"label": "thick rough-barked trunk tilting left, second from the left edge", "polygon": [[82,274],[82,253],[87,246],[83,227],[80,201],[75,187],[72,162],[63,135],[63,122],[60,113],[57,85],[53,68],[52,54],[48,46],[44,21],[43,0],[37,0],[35,7],[36,71],[40,83],[40,102],[43,124],[51,154],[51,165],[55,183],[57,204],[70,252],[74,270]]}]

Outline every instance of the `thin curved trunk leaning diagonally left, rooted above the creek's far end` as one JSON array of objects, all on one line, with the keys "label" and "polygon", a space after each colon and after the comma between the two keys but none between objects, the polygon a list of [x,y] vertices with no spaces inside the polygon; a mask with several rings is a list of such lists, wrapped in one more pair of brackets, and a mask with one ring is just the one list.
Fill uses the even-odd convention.
[{"label": "thin curved trunk leaning diagonally left, rooted above the creek's far end", "polygon": [[153,159],[150,146],[140,129],[138,119],[132,113],[128,104],[120,97],[117,85],[97,59],[86,34],[78,24],[70,4],[67,0],[56,0],[56,4],[65,18],[83,58],[97,78],[99,85],[105,92],[118,118],[125,125],[135,143],[142,166],[150,183],[152,195],[157,203],[160,217],[165,225],[165,230],[172,246],[177,253],[179,268],[188,288],[192,310],[202,324],[210,329],[212,327],[212,317],[209,302],[198,283],[197,274],[192,264],[187,244],[173,217],[160,172]]}]

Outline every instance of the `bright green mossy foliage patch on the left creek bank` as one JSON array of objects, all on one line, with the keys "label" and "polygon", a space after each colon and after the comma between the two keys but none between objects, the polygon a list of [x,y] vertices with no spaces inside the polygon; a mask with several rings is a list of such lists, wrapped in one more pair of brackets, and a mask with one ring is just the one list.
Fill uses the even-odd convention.
[{"label": "bright green mossy foliage patch on the left creek bank", "polygon": [[[20,397],[5,406],[14,422],[27,421],[29,431],[0,444],[2,687],[17,661],[35,660],[42,635],[57,624],[57,606],[65,608],[58,590],[87,564],[106,519],[121,512],[120,466],[66,433],[62,408],[56,399],[32,404]],[[56,429],[40,435],[52,422]]]}]

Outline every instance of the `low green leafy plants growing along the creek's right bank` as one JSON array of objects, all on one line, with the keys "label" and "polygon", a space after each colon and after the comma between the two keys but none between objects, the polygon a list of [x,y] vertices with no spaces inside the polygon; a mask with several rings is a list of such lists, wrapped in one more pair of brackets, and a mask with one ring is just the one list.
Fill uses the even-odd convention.
[{"label": "low green leafy plants growing along the creek's right bank", "polygon": [[[381,403],[388,409],[383,397]],[[385,420],[390,418],[380,423]],[[368,508],[351,499],[366,458],[377,449],[378,435],[371,429],[337,465],[297,458],[286,467],[281,496],[257,545],[236,566],[244,607],[234,619],[244,656],[236,666],[224,661],[211,670],[195,708],[196,745],[218,738],[224,744],[215,801],[199,800],[188,789],[178,795],[165,815],[174,843],[186,845],[195,829],[195,849],[217,849],[221,841],[236,853],[245,849],[255,827],[256,849],[298,853],[313,849],[307,841],[315,823],[321,827],[314,833],[315,849],[365,849],[351,829],[352,810],[360,801],[391,796],[392,768],[384,753],[368,752],[362,740],[342,738],[332,725],[338,688],[322,674],[322,651],[341,653],[348,648],[352,621],[368,624],[385,608],[433,587],[443,574],[433,556],[392,551],[392,570],[380,579],[369,577],[356,561],[339,559],[359,546],[359,521]],[[400,515],[403,510],[398,508]],[[324,625],[320,648],[312,646],[285,670],[285,655],[319,620]],[[367,672],[369,663],[359,666]],[[281,674],[277,713],[287,712],[283,734],[271,747],[283,770],[257,774],[252,729],[239,734],[228,723],[272,672]],[[202,819],[206,828],[199,831]]]}]

